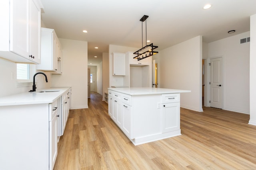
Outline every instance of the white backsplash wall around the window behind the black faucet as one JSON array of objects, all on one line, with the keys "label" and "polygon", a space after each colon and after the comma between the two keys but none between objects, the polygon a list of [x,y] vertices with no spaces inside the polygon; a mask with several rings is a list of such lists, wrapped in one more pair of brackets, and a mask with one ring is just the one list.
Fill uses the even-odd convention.
[{"label": "white backsplash wall around the window behind the black faucet", "polygon": [[[33,66],[35,66],[33,64]],[[43,72],[43,71],[38,71]],[[44,72],[47,76],[48,83],[46,83],[43,75],[38,74],[36,76],[36,91],[42,88],[50,88],[51,87],[51,74]],[[32,90],[33,83],[29,83],[27,86],[20,87],[20,84],[17,84],[17,69],[16,63],[12,63],[9,61],[5,61],[0,59],[0,97],[8,96],[16,93],[28,92]],[[33,81],[33,77],[32,77]]]}]

